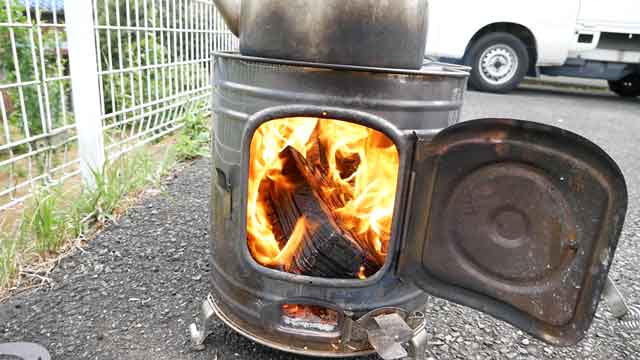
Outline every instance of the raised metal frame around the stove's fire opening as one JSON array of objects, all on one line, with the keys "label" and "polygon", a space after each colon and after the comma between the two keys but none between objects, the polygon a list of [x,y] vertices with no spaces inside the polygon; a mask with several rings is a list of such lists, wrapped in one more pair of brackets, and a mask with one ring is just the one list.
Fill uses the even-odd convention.
[{"label": "raised metal frame around the stove's fire opening", "polygon": [[[395,144],[398,150],[400,164],[398,167],[398,181],[396,185],[396,199],[394,201],[394,212],[391,227],[391,246],[387,253],[384,265],[371,277],[361,279],[336,279],[322,278],[307,275],[291,274],[280,270],[270,269],[259,264],[251,255],[249,246],[247,246],[247,205],[248,198],[248,178],[249,178],[249,150],[251,140],[255,131],[260,125],[270,120],[277,120],[287,117],[318,117],[324,119],[342,120],[352,122],[358,125],[366,126],[377,130],[388,136]],[[398,129],[393,123],[385,118],[373,115],[361,110],[352,110],[339,107],[317,106],[317,105],[280,105],[266,108],[253,114],[247,121],[247,125],[242,135],[242,158],[241,158],[241,179],[246,179],[247,184],[242,186],[240,199],[242,206],[240,207],[240,228],[244,236],[244,246],[242,246],[242,259],[251,267],[252,270],[259,272],[264,276],[276,280],[287,281],[291,283],[303,284],[306,286],[317,286],[327,288],[364,288],[373,286],[387,275],[390,270],[397,267],[400,245],[405,235],[406,215],[408,209],[408,200],[411,178],[410,171],[413,164],[413,145],[415,142],[415,134],[413,132]],[[403,210],[404,209],[404,210]]]}]

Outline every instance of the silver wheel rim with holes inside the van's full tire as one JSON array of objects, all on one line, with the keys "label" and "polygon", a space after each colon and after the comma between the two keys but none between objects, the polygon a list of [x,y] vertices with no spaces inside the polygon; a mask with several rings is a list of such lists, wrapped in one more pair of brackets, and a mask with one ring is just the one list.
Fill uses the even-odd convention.
[{"label": "silver wheel rim with holes inside the van's full tire", "polygon": [[480,75],[492,85],[509,82],[518,69],[518,57],[515,50],[504,44],[486,49],[480,56]]}]

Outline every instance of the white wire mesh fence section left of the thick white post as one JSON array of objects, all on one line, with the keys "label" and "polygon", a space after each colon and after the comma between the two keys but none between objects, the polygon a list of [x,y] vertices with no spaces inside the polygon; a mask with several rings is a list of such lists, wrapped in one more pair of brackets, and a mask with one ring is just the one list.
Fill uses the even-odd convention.
[{"label": "white wire mesh fence section left of the thick white post", "polygon": [[64,12],[0,1],[0,207],[78,173]]}]

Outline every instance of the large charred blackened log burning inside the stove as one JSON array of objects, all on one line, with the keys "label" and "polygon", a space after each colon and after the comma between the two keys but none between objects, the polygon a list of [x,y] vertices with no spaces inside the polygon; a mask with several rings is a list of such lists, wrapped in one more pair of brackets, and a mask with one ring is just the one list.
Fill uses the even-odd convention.
[{"label": "large charred blackened log burning inside the stove", "polygon": [[294,148],[287,147],[280,156],[284,179],[273,181],[269,189],[276,233],[288,239],[302,216],[309,224],[287,271],[328,278],[375,273],[379,268],[376,260],[340,228],[332,214],[332,209],[342,205],[340,199],[316,190],[326,186],[327,180]]}]

